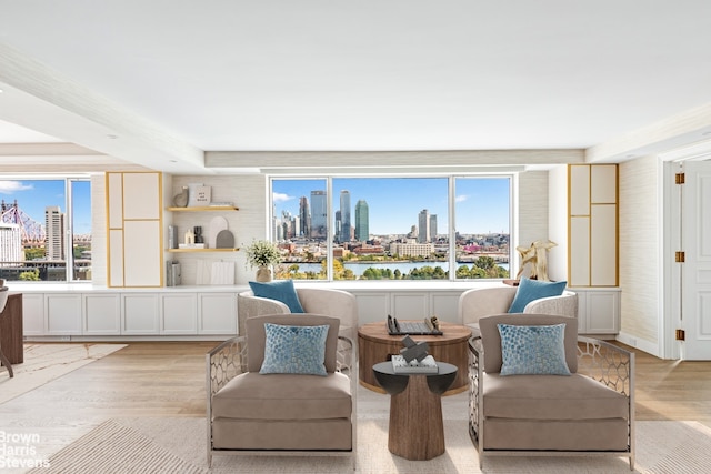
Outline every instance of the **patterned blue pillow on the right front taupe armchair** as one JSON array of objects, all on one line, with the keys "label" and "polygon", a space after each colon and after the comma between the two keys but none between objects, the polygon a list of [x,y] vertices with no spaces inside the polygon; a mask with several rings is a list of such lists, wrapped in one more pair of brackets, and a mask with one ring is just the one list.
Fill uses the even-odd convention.
[{"label": "patterned blue pillow on the right front taupe armchair", "polygon": [[501,375],[570,375],[565,362],[565,324],[497,324],[501,334]]}]

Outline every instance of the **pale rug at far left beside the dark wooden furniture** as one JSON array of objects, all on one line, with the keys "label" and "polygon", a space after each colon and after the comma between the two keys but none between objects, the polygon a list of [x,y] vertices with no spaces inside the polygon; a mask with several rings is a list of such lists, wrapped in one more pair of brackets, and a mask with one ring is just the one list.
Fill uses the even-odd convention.
[{"label": "pale rug at far left beside the dark wooden furniture", "polygon": [[122,347],[126,344],[24,344],[24,362],[12,365],[12,379],[0,367],[0,404]]}]

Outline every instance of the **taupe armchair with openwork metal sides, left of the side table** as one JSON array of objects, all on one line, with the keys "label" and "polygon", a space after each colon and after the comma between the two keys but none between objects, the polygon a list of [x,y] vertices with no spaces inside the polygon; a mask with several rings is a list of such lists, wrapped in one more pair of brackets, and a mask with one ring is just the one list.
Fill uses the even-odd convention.
[{"label": "taupe armchair with openwork metal sides, left of the side table", "polygon": [[[267,323],[328,325],[326,376],[260,373],[271,351]],[[273,314],[250,317],[246,326],[246,336],[207,354],[208,464],[214,454],[351,456],[354,468],[357,372],[337,369],[339,340],[351,347],[348,366],[356,366],[352,341],[338,334],[339,320]],[[282,350],[283,341],[279,342],[271,347]]]}]

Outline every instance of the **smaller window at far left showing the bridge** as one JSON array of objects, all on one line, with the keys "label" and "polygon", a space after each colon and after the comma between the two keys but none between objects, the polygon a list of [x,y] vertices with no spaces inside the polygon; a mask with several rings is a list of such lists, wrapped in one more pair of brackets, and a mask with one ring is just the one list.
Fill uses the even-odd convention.
[{"label": "smaller window at far left showing the bridge", "polygon": [[88,179],[0,180],[0,278],[91,280]]}]

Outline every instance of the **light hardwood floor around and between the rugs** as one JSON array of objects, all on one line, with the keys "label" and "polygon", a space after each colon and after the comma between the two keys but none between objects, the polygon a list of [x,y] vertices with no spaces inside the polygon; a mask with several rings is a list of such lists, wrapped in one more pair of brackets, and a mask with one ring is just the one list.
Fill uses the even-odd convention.
[{"label": "light hardwood floor around and between the rugs", "polygon": [[[214,345],[130,343],[0,404],[0,430],[38,432],[42,451],[51,453],[111,417],[204,416],[204,357]],[[711,427],[711,362],[663,361],[638,352],[635,373],[637,420],[699,421]]]}]

